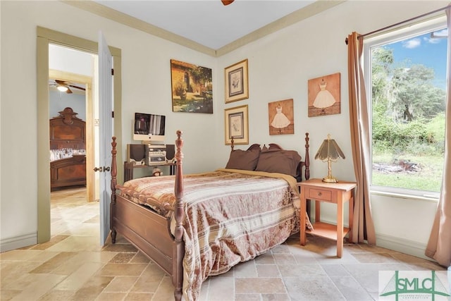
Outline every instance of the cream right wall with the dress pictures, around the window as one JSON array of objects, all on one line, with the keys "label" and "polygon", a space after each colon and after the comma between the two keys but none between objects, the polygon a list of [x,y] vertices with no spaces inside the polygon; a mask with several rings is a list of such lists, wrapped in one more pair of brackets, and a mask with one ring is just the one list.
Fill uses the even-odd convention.
[{"label": "cream right wall with the dress pictures, around the window", "polygon": [[[303,152],[304,133],[309,132],[311,178],[327,174],[327,164],[314,160],[314,155],[330,133],[346,156],[345,160],[333,163],[333,175],[342,180],[354,180],[345,38],[353,31],[364,34],[447,6],[447,1],[409,1],[406,4],[406,1],[347,1],[221,56],[218,58],[220,70],[249,59],[249,99],[222,104],[222,107],[249,105],[250,143],[276,142]],[[338,72],[341,74],[341,113],[309,118],[307,81]],[[294,100],[295,135],[270,136],[268,102],[289,98]],[[227,152],[222,148],[219,157],[226,158]],[[381,195],[374,195],[371,201],[378,245],[424,257],[436,202]],[[321,204],[321,219],[335,223],[335,208],[333,204]]]}]

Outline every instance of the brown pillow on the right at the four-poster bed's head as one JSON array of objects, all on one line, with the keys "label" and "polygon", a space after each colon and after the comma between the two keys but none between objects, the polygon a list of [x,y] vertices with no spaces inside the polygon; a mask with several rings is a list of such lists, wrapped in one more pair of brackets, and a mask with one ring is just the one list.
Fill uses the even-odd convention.
[{"label": "brown pillow on the right at the four-poster bed's head", "polygon": [[256,171],[268,173],[285,173],[296,177],[301,156],[292,150],[275,150],[262,152],[259,156]]}]

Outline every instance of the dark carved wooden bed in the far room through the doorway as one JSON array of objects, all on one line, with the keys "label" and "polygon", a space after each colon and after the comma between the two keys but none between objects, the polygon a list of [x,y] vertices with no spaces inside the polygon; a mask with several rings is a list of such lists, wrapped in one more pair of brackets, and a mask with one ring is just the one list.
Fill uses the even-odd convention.
[{"label": "dark carved wooden bed in the far room through the doorway", "polygon": [[72,108],[49,120],[50,188],[86,185],[85,121]]}]

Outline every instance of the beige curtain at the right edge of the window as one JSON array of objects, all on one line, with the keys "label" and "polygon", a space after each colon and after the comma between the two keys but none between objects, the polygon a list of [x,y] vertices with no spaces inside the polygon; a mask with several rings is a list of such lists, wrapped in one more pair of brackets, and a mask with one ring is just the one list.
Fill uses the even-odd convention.
[{"label": "beige curtain at the right edge of the window", "polygon": [[437,212],[426,247],[426,256],[443,266],[451,266],[451,9],[447,8],[448,56],[447,56],[447,98],[445,126],[445,164],[443,182]]}]

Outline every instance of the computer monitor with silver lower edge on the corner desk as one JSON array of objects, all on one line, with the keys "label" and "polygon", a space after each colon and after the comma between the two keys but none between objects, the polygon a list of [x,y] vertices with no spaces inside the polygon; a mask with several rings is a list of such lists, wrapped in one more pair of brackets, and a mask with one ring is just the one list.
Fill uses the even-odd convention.
[{"label": "computer monitor with silver lower edge on the corner desk", "polygon": [[135,113],[133,121],[133,140],[143,142],[162,142],[164,141],[164,128],[166,125],[166,116]]}]

